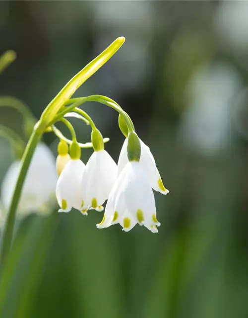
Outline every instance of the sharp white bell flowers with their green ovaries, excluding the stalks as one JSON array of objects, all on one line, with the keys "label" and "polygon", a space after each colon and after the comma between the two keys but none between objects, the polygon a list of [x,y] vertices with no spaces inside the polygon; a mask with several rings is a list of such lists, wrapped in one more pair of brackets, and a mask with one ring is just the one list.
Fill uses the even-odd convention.
[{"label": "sharp white bell flowers with their green ovaries, excluding the stalks", "polygon": [[[61,142],[58,150],[57,162],[65,162],[65,156],[68,157],[66,144]],[[103,220],[97,224],[99,229],[119,223],[127,232],[138,223],[156,233],[160,223],[152,189],[162,194],[169,192],[150,149],[136,133],[130,132],[118,164],[100,148],[95,149],[85,165],[80,159],[80,148],[76,143],[71,144],[70,159],[59,176],[56,196],[61,207],[59,212],[74,208],[83,215],[87,215],[89,209],[102,211],[108,200]]]}]

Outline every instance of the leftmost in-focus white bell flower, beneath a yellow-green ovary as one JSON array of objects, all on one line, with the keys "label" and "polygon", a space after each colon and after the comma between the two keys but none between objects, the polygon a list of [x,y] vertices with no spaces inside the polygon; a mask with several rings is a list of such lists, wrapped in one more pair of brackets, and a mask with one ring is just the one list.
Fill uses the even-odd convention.
[{"label": "leftmost in-focus white bell flower, beneath a yellow-green ovary", "polygon": [[57,200],[62,208],[59,212],[69,212],[72,207],[82,210],[81,182],[84,168],[81,160],[71,159],[62,170],[56,187]]}]

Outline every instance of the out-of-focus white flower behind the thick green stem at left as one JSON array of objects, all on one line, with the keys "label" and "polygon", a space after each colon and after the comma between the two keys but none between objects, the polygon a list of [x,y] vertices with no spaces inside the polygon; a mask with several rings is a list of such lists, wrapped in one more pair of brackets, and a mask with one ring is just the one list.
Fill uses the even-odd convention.
[{"label": "out-of-focus white flower behind the thick green stem at left", "polygon": [[[20,168],[21,161],[14,161],[2,181],[1,202],[4,211],[9,208]],[[17,217],[26,216],[32,212],[41,215],[49,214],[54,208],[57,179],[55,158],[49,147],[40,143],[34,152],[26,175],[17,208]]]}]

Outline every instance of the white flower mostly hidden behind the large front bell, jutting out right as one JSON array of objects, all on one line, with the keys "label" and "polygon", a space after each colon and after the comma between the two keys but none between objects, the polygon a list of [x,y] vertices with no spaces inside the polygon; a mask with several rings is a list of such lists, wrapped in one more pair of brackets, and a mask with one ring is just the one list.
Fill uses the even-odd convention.
[{"label": "white flower mostly hidden behind the large front bell, jutting out right", "polygon": [[[140,155],[139,162],[143,166],[143,168],[145,169],[148,175],[150,186],[155,191],[159,191],[162,194],[167,194],[169,190],[167,190],[164,187],[163,181],[161,179],[160,173],[158,171],[155,159],[150,151],[150,148],[146,146],[141,139],[139,139],[139,141],[141,146],[141,155]],[[119,160],[118,160],[118,175],[120,175],[120,173],[124,169],[127,162],[128,162],[128,158],[127,158],[127,138],[126,138],[120,153]]]}]

